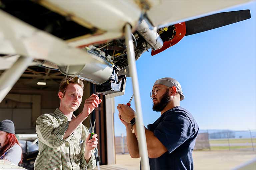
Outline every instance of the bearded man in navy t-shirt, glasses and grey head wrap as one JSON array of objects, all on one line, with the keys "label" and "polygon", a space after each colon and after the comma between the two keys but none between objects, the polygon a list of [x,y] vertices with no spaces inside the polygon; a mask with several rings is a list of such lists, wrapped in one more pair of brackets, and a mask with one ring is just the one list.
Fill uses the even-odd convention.
[{"label": "bearded man in navy t-shirt, glasses and grey head wrap", "polygon": [[[153,111],[161,112],[160,118],[145,128],[150,169],[192,170],[192,151],[199,128],[191,113],[180,107],[185,97],[180,83],[173,78],[161,78],[154,83],[150,97]],[[139,158],[136,113],[125,104],[118,104],[117,109],[126,127],[129,153],[132,158]]]}]

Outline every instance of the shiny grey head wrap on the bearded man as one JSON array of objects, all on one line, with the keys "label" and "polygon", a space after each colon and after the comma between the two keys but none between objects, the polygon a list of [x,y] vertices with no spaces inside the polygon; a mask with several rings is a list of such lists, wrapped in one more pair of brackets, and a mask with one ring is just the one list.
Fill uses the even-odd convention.
[{"label": "shiny grey head wrap on the bearded man", "polygon": [[182,92],[180,83],[177,80],[175,80],[174,78],[170,78],[170,77],[160,78],[160,79],[156,80],[154,85],[156,85],[156,84],[162,84],[167,87],[175,86],[177,88],[177,92],[180,94],[180,101],[182,101],[185,98],[185,96]]}]

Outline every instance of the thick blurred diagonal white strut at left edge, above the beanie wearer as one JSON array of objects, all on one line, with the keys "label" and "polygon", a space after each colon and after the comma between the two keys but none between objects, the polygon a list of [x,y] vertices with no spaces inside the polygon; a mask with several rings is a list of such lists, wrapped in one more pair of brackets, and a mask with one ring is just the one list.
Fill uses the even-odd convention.
[{"label": "thick blurred diagonal white strut at left edge, above the beanie wearer", "polygon": [[20,56],[0,77],[0,103],[27,69],[33,58]]}]

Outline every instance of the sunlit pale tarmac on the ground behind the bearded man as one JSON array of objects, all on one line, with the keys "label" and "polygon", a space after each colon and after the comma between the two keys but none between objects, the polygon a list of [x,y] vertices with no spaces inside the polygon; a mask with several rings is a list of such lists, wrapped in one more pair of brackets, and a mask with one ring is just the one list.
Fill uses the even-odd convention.
[{"label": "sunlit pale tarmac on the ground behind the bearded man", "polygon": [[[230,170],[256,157],[253,151],[194,151],[195,170]],[[101,170],[139,170],[140,158],[116,154],[116,164],[102,165]],[[97,168],[95,169],[97,170]]]}]

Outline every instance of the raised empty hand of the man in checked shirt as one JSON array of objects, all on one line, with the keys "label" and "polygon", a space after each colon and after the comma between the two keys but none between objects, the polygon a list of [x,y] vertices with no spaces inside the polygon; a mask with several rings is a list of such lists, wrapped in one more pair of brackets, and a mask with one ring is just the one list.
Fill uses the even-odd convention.
[{"label": "raised empty hand of the man in checked shirt", "polygon": [[90,115],[92,111],[98,107],[98,105],[102,102],[98,95],[92,94],[88,99],[84,102],[84,108],[82,113],[86,116]]}]

